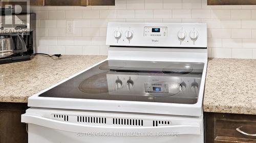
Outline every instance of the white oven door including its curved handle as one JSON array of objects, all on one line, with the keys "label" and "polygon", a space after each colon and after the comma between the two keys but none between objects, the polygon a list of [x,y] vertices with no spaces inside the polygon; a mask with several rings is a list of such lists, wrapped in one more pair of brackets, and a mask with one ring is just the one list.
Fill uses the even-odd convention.
[{"label": "white oven door including its curved handle", "polygon": [[25,113],[28,143],[202,143],[199,124],[159,127],[97,126],[68,123]]}]

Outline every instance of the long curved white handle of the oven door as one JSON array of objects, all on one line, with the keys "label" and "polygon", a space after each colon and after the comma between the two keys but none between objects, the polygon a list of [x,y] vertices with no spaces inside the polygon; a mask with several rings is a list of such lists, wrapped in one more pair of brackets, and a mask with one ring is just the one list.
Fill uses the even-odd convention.
[{"label": "long curved white handle of the oven door", "polygon": [[[125,127],[125,126],[107,126],[107,125],[83,125],[69,123],[65,121],[57,121],[44,117],[30,115],[25,113],[22,115],[22,122],[34,124],[42,127],[52,128],[61,131],[74,133],[148,133],[146,136],[171,136],[182,134],[200,135],[200,124],[196,125],[173,125],[173,126],[158,126],[158,127]],[[133,136],[133,135],[132,135]],[[139,135],[140,136],[140,135]],[[143,135],[141,135],[143,136]]]}]

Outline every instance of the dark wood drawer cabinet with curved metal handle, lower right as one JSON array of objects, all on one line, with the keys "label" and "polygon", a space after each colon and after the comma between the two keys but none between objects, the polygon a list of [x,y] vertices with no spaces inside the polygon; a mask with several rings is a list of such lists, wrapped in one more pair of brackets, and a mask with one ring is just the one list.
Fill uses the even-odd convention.
[{"label": "dark wood drawer cabinet with curved metal handle, lower right", "polygon": [[255,115],[205,112],[204,124],[205,143],[256,142],[256,136],[252,136],[256,134]]}]

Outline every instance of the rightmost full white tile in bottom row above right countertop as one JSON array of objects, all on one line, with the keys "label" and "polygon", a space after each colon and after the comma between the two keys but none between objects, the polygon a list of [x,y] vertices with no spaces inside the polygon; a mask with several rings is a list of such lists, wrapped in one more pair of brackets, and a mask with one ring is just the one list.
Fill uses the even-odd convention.
[{"label": "rightmost full white tile in bottom row above right countertop", "polygon": [[232,58],[237,59],[251,59],[252,58],[252,49],[232,49]]}]

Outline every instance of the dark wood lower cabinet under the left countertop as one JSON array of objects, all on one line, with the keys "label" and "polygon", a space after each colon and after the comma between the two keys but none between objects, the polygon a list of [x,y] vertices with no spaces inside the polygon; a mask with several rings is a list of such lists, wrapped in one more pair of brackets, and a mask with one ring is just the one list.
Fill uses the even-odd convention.
[{"label": "dark wood lower cabinet under the left countertop", "polygon": [[27,103],[0,103],[1,143],[28,143],[26,124],[20,122],[27,108]]}]

